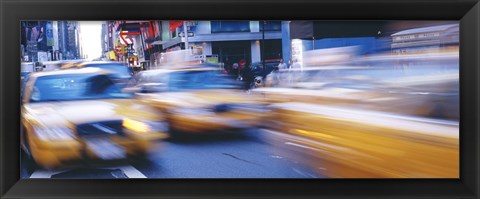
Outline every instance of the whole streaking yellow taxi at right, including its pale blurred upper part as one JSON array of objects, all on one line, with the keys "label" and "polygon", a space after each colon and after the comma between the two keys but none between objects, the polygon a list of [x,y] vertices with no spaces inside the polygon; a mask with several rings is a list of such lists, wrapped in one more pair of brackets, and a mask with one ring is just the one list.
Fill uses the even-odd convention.
[{"label": "whole streaking yellow taxi at right, including its pale blurred upper part", "polygon": [[458,178],[458,68],[442,67],[286,70],[252,92],[276,152],[323,176]]}]

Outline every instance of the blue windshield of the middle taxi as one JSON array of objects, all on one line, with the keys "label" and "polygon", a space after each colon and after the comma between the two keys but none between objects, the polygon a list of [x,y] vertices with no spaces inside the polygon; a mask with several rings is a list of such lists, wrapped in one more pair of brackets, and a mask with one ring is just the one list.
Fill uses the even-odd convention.
[{"label": "blue windshield of the middle taxi", "polygon": [[204,90],[204,89],[240,89],[239,82],[216,70],[178,71],[170,74],[170,91]]}]

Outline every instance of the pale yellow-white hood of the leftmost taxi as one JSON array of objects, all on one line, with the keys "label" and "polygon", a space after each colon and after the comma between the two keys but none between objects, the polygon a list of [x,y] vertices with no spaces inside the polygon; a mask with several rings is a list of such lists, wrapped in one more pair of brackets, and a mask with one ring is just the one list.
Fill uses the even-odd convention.
[{"label": "pale yellow-white hood of the leftmost taxi", "polygon": [[31,103],[25,105],[24,108],[25,114],[29,114],[44,125],[82,124],[121,120],[125,117],[149,120],[162,119],[153,110],[132,99]]}]

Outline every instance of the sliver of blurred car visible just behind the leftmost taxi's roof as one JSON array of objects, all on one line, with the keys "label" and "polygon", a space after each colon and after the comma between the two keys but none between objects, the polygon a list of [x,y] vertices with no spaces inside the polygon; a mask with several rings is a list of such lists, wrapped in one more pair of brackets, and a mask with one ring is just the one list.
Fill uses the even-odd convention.
[{"label": "sliver of blurred car visible just behind the leftmost taxi's roof", "polygon": [[120,87],[125,87],[133,76],[133,70],[121,62],[112,61],[92,61],[92,62],[78,62],[63,66],[62,69],[72,68],[101,68],[111,71],[110,78]]}]

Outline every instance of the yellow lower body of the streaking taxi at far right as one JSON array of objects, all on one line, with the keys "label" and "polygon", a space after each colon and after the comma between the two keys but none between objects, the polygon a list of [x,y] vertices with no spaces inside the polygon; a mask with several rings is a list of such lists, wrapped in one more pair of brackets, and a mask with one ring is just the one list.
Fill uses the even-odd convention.
[{"label": "yellow lower body of the streaking taxi at far right", "polygon": [[272,107],[267,140],[332,178],[458,178],[459,124],[309,103]]}]

